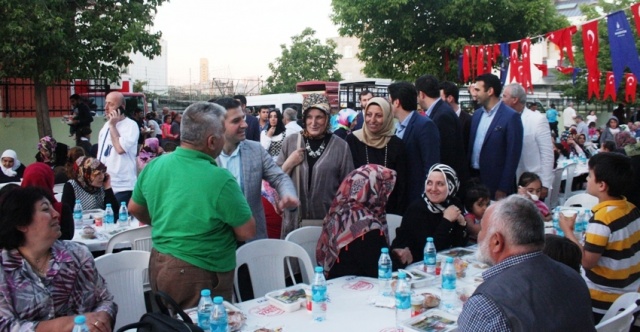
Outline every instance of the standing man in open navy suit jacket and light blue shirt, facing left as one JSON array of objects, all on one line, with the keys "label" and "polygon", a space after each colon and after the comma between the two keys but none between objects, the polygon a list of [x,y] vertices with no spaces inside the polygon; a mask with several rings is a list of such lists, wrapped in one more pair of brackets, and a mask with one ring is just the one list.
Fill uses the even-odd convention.
[{"label": "standing man in open navy suit jacket and light blue shirt, facing left", "polygon": [[493,74],[476,78],[475,92],[482,107],[473,113],[469,138],[471,176],[498,200],[516,189],[516,169],[522,153],[520,114],[502,103],[500,79]]}]

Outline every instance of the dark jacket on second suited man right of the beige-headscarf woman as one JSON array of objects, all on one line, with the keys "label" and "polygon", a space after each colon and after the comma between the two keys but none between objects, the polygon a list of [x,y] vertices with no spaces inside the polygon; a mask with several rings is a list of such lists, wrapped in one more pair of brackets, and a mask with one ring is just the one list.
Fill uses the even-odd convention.
[{"label": "dark jacket on second suited man right of the beige-headscarf woman", "polygon": [[[438,100],[429,114],[429,118],[440,132],[440,163],[453,168],[461,184],[468,178],[467,154],[462,141],[462,124],[449,104]],[[460,192],[463,194],[463,192]]]}]

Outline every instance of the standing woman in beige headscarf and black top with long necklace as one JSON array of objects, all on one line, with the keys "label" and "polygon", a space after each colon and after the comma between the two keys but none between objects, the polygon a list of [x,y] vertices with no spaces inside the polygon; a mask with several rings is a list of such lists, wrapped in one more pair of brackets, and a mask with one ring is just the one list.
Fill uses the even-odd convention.
[{"label": "standing woman in beige headscarf and black top with long necklace", "polygon": [[387,213],[402,215],[407,204],[411,203],[402,199],[407,183],[407,156],[404,143],[395,135],[391,104],[384,98],[371,98],[363,115],[362,129],[347,136],[353,165],[376,164],[396,171],[396,185],[386,210]]}]

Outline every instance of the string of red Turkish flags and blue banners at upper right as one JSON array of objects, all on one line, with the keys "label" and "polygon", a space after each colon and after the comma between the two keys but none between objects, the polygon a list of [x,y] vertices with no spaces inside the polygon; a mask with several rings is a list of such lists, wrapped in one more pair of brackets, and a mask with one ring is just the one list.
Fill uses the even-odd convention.
[{"label": "string of red Turkish flags and blue banners at upper right", "polygon": [[[640,3],[632,5],[631,12],[636,26],[636,32],[640,36]],[[598,37],[598,21],[607,19],[607,31],[609,33],[609,47],[611,54],[612,70],[605,72],[605,89],[600,94],[600,80],[602,72],[598,66],[598,53],[600,52]],[[624,11],[616,11],[604,17],[586,22],[581,25],[582,45],[584,46],[584,59],[587,71],[587,98],[606,100],[611,98],[616,101],[616,92],[620,80],[624,79],[625,101],[636,101],[637,77],[640,77],[640,59],[635,46],[633,32]],[[572,75],[575,84],[577,75],[582,68],[575,67],[572,36],[578,32],[578,27],[572,25],[545,34],[544,37],[555,44],[560,50],[560,60],[567,58],[570,66],[556,66],[555,69],[565,75]],[[535,37],[534,37],[535,38]],[[502,57],[500,57],[502,55]],[[458,58],[460,76],[464,82],[468,82],[475,76],[490,73],[494,65],[500,67],[500,80],[504,85],[514,80],[524,87],[525,91],[533,93],[531,81],[531,37],[518,41],[488,45],[466,45]],[[448,62],[448,61],[447,61]],[[547,76],[549,68],[546,64],[533,64]],[[630,73],[624,73],[628,67]],[[509,70],[511,68],[511,70]],[[508,77],[507,77],[508,73]]]}]

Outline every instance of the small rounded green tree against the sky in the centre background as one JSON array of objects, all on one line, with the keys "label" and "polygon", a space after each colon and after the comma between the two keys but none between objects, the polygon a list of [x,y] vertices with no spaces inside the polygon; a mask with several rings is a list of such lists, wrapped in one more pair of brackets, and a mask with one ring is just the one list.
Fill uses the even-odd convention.
[{"label": "small rounded green tree against the sky in the centre background", "polygon": [[271,76],[261,93],[295,92],[296,83],[303,81],[339,81],[342,79],[336,63],[342,55],[335,52],[336,43],[327,40],[322,45],[315,30],[306,28],[291,37],[291,46],[280,45],[282,55],[269,64]]}]

